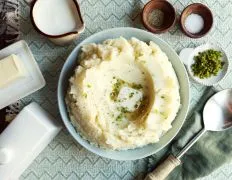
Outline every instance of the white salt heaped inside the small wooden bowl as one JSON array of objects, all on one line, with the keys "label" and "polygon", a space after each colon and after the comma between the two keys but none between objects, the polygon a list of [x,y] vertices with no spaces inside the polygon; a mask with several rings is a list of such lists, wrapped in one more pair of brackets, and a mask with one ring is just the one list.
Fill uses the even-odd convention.
[{"label": "white salt heaped inside the small wooden bowl", "polygon": [[204,19],[199,14],[190,14],[186,18],[184,26],[191,34],[197,34],[204,28]]}]

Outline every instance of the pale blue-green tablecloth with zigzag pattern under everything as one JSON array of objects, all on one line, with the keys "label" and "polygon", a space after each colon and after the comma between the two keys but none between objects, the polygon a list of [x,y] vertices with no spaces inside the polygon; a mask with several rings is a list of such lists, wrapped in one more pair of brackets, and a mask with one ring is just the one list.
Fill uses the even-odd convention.
[{"label": "pale blue-green tablecloth with zigzag pattern under everything", "polygon": [[[29,18],[29,3],[20,0],[21,39],[29,44],[46,79],[42,90],[20,101],[21,106],[36,101],[60,120],[56,87],[60,70],[72,49],[91,34],[107,28],[132,26],[143,28],[140,13],[146,0],[80,0],[81,11],[86,23],[85,32],[70,46],[53,45],[33,29]],[[198,40],[184,36],[176,25],[170,32],[159,35],[177,52],[184,47],[194,47],[204,42],[216,42],[232,56],[232,0],[170,0],[178,13],[188,4],[202,2],[213,11],[215,23],[206,37]],[[218,89],[232,87],[232,70]],[[191,108],[199,101],[205,87],[191,83]],[[136,161],[114,161],[101,158],[76,144],[63,129],[49,146],[35,159],[21,179],[134,179],[146,172],[148,159]],[[205,179],[232,179],[232,164],[226,164]]]}]

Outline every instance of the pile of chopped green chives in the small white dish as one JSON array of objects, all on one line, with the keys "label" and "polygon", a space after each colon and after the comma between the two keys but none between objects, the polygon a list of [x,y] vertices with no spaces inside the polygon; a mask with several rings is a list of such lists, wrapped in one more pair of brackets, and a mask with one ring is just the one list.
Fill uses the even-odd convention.
[{"label": "pile of chopped green chives in the small white dish", "polygon": [[191,66],[194,76],[200,79],[216,76],[223,68],[224,62],[221,60],[222,52],[213,49],[200,52],[194,57],[194,64]]}]

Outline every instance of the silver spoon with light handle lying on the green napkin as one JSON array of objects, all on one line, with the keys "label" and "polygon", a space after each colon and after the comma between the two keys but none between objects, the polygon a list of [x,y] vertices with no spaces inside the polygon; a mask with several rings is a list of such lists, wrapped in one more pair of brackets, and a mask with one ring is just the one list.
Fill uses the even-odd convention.
[{"label": "silver spoon with light handle lying on the green napkin", "polygon": [[232,127],[232,89],[226,89],[213,95],[203,110],[204,128],[176,156],[170,155],[145,180],[163,180],[180,165],[180,158],[206,132],[224,131]]}]

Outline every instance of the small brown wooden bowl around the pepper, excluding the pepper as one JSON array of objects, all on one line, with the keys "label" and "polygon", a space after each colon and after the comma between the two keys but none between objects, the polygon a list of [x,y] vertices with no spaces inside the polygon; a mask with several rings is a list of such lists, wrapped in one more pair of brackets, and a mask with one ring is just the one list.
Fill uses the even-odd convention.
[{"label": "small brown wooden bowl around the pepper, excluding the pepper", "polygon": [[[164,13],[163,24],[159,27],[151,25],[148,21],[150,13],[155,9],[159,9]],[[149,31],[157,34],[164,33],[173,27],[176,22],[175,8],[168,1],[152,0],[144,6],[142,20],[144,27]]]}]

